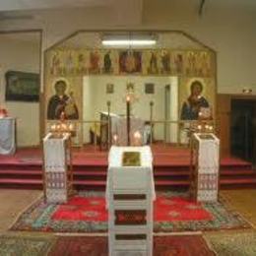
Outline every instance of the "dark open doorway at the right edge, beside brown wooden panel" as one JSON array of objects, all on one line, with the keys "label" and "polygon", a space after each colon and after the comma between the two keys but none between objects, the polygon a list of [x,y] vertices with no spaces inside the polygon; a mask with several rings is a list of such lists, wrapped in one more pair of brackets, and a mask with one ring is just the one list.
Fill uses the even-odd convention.
[{"label": "dark open doorway at the right edge, beside brown wooden panel", "polygon": [[231,99],[231,154],[256,163],[256,100]]}]

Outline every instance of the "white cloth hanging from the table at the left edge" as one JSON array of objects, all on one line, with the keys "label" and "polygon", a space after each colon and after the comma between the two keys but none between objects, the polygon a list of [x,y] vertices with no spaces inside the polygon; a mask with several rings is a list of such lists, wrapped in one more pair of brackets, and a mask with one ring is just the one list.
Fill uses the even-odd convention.
[{"label": "white cloth hanging from the table at the left edge", "polygon": [[0,154],[11,155],[15,151],[15,118],[0,118]]}]

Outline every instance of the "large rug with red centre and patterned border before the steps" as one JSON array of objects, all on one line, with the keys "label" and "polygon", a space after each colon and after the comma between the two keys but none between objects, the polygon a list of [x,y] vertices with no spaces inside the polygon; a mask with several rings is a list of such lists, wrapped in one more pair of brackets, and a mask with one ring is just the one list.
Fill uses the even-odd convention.
[{"label": "large rug with red centre and patterned border before the steps", "polygon": [[[196,204],[187,194],[158,194],[154,205],[155,231],[196,231],[250,227],[222,203]],[[107,230],[104,194],[80,192],[67,204],[44,204],[39,200],[23,213],[12,230],[53,232],[101,232]]]}]

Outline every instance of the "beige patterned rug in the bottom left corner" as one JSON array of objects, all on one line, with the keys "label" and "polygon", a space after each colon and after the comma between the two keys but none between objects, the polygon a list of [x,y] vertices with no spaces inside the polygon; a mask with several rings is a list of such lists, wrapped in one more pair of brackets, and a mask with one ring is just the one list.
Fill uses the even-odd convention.
[{"label": "beige patterned rug in the bottom left corner", "polygon": [[0,256],[44,256],[54,242],[49,236],[1,235]]}]

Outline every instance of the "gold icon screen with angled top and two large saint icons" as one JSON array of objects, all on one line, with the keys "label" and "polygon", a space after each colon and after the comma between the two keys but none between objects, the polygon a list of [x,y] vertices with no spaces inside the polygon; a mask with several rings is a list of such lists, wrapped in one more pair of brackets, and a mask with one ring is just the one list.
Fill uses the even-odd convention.
[{"label": "gold icon screen with angled top and two large saint icons", "polygon": [[[84,92],[88,81],[92,84],[91,91],[96,90],[97,86],[94,86],[93,81],[97,81],[97,84],[100,84],[100,88],[97,88],[100,92],[97,95],[102,96],[100,100],[112,99],[112,110],[118,109],[119,113],[123,114],[120,109],[124,109],[125,105],[121,105],[122,101],[119,101],[119,105],[114,105],[118,101],[114,98],[125,96],[129,91],[127,85],[132,84],[132,90],[138,94],[138,105],[143,107],[148,100],[155,101],[157,107],[158,100],[164,101],[164,87],[171,85],[171,82],[168,82],[171,78],[176,78],[176,99],[174,100],[173,96],[170,99],[170,104],[177,102],[174,109],[176,114],[169,116],[168,119],[195,120],[201,114],[200,109],[204,108],[207,108],[209,118],[215,117],[216,53],[212,49],[183,32],[152,32],[156,35],[157,43],[151,46],[105,46],[101,43],[104,33],[106,32],[77,32],[46,50],[46,128],[52,120],[59,119],[63,111],[66,118],[74,123],[82,124],[83,121],[96,119],[95,113],[89,113],[90,99]],[[115,33],[120,32],[111,32],[112,35]],[[132,33],[129,32],[129,36]],[[162,98],[157,96],[158,92]],[[94,105],[94,102],[91,104]],[[106,111],[106,102],[104,106],[105,109],[101,106],[94,111]],[[137,108],[139,113],[139,106]],[[145,119],[149,119],[150,107],[148,108],[147,113],[140,113]],[[164,119],[164,107],[157,108],[154,120]],[[145,117],[145,114],[148,116]],[[79,133],[82,133],[83,125],[80,125],[79,130]],[[78,140],[83,141],[83,135]]]}]

